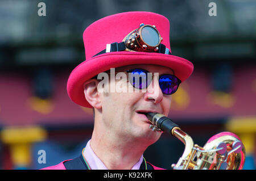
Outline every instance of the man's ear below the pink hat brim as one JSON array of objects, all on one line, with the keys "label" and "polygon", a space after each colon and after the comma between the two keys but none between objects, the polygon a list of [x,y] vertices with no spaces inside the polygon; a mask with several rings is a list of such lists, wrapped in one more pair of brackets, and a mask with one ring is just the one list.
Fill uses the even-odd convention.
[{"label": "man's ear below the pink hat brim", "polygon": [[90,79],[84,83],[84,95],[89,104],[96,108],[101,109],[100,94],[97,90],[98,82],[96,79]]}]

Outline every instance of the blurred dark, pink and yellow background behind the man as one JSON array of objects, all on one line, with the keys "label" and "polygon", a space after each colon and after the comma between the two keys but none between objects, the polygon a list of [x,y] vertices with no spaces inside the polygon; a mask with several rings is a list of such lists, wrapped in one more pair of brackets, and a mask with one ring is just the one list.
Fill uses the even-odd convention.
[{"label": "blurred dark, pink and yellow background behind the man", "polygon": [[[38,15],[40,2],[46,16]],[[85,60],[85,28],[125,11],[166,16],[172,54],[195,66],[169,117],[200,146],[219,132],[236,133],[246,148],[244,169],[255,169],[255,10],[255,0],[0,0],[0,169],[41,169],[81,154],[93,112],[69,99],[67,79]],[[171,169],[183,151],[163,134],[144,157]]]}]

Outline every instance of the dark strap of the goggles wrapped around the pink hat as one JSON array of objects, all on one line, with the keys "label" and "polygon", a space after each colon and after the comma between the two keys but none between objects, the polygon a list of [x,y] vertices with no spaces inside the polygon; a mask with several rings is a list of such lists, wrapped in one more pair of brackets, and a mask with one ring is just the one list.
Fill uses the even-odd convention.
[{"label": "dark strap of the goggles wrapped around the pink hat", "polygon": [[[125,42],[121,42],[121,43],[115,42],[112,44],[107,44],[106,47],[107,48],[105,50],[102,50],[101,52],[97,53],[93,57],[98,56],[99,54],[108,53],[108,52],[121,52],[126,49]],[[170,50],[166,48],[166,46],[163,44],[159,45],[159,50],[157,52],[152,52],[152,53],[171,54]]]}]

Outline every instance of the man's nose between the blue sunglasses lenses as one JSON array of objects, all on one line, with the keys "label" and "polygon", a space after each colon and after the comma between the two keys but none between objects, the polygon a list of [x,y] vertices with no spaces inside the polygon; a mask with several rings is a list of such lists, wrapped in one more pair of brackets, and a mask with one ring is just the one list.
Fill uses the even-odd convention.
[{"label": "man's nose between the blue sunglasses lenses", "polygon": [[150,85],[147,87],[147,91],[144,94],[145,100],[153,100],[154,103],[159,103],[163,99],[163,92],[159,86],[158,76],[154,76]]}]

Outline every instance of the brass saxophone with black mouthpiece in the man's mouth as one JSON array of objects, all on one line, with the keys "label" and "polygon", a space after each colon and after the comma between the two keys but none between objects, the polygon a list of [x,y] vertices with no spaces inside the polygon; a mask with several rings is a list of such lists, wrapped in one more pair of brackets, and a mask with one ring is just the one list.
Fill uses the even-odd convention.
[{"label": "brass saxophone with black mouthpiece in the man's mouth", "polygon": [[183,132],[172,120],[157,112],[145,113],[152,123],[152,131],[168,132],[185,145],[183,155],[175,170],[241,170],[245,163],[245,146],[240,138],[231,132],[212,136],[202,148]]}]

